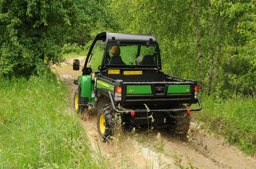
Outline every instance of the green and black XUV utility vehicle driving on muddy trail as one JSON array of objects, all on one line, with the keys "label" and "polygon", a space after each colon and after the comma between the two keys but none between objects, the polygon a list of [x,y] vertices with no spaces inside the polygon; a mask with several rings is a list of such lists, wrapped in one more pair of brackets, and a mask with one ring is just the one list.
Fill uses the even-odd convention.
[{"label": "green and black XUV utility vehicle driving on muddy trail", "polygon": [[[73,69],[79,70],[74,59]],[[97,112],[97,130],[105,141],[113,132],[114,115],[131,129],[159,125],[174,135],[186,136],[190,111],[202,106],[197,81],[177,78],[161,71],[160,49],[152,34],[102,32],[96,36],[85,60],[83,73],[75,80],[77,113]],[[196,104],[196,109],[186,105]]]}]

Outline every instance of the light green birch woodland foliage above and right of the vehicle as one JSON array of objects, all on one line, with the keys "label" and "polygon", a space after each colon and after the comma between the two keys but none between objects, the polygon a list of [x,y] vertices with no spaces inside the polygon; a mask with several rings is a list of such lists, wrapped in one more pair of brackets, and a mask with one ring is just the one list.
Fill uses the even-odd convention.
[{"label": "light green birch woodland foliage above and right of the vehicle", "polygon": [[[220,69],[218,83],[223,84],[225,73],[237,68],[240,72],[230,71],[222,90],[237,86],[234,79],[238,75],[237,91],[245,94],[255,92],[255,1],[195,1],[199,24],[196,24],[191,1],[120,1],[113,0],[112,8],[117,15],[123,32],[153,33],[160,44],[163,71],[176,77],[204,79],[207,82],[209,48],[209,17],[213,18],[213,76],[216,61],[216,47],[220,48]],[[122,11],[122,12],[121,12]],[[220,19],[220,20],[219,20]],[[219,23],[220,22],[220,23]],[[220,27],[218,27],[220,24]],[[234,25],[237,32],[234,32]],[[198,41],[195,27],[200,30],[203,54],[203,77],[199,75]],[[219,37],[217,37],[219,33]],[[232,67],[228,58],[232,54]],[[240,67],[236,67],[240,66]],[[248,78],[250,77],[250,78]],[[212,77],[213,78],[213,77]],[[246,79],[247,83],[242,83]],[[248,86],[246,84],[249,84]],[[206,84],[204,85],[206,86]],[[235,89],[233,89],[234,91]]]}]

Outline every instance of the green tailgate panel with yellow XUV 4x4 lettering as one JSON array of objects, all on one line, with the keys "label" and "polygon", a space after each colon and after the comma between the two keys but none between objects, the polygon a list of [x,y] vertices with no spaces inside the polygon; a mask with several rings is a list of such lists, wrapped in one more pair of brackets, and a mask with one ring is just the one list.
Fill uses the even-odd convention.
[{"label": "green tailgate panel with yellow XUV 4x4 lettering", "polygon": [[150,85],[136,86],[130,85],[126,87],[126,95],[152,94]]}]

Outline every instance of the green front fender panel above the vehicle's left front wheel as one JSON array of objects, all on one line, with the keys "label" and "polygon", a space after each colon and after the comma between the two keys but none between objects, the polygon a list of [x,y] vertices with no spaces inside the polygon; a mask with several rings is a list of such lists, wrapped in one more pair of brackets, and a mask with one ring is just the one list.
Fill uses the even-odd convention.
[{"label": "green front fender panel above the vehicle's left front wheel", "polygon": [[94,91],[94,85],[91,81],[91,75],[79,76],[78,80],[81,83],[81,96],[88,97],[89,102],[94,102],[94,97],[91,97],[92,91]]}]

